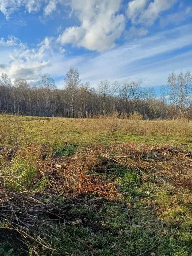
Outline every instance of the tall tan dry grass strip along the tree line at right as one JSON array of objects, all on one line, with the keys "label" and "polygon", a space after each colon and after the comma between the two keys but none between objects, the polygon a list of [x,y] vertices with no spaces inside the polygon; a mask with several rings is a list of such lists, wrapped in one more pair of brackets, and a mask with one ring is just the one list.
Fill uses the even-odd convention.
[{"label": "tall tan dry grass strip along the tree line at right", "polygon": [[178,119],[175,121],[143,121],[138,119],[89,119],[79,124],[85,131],[137,133],[138,135],[176,135],[192,139],[192,122]]}]

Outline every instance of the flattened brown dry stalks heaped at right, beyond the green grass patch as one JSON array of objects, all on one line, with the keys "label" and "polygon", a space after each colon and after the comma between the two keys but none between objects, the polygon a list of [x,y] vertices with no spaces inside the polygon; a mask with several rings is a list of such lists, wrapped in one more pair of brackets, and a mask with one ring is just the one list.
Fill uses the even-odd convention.
[{"label": "flattened brown dry stalks heaped at right, beyond the green grass patch", "polygon": [[[111,152],[117,152],[111,156]],[[113,153],[115,154],[115,153]],[[150,172],[173,186],[192,192],[192,152],[169,145],[125,143],[101,149],[101,156],[128,169]]]}]

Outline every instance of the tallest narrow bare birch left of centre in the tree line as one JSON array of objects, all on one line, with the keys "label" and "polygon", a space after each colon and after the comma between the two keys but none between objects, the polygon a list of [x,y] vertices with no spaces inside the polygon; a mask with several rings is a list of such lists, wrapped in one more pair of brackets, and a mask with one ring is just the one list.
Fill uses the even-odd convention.
[{"label": "tallest narrow bare birch left of centre in the tree line", "polygon": [[77,91],[80,83],[78,69],[71,67],[66,74],[64,82],[66,83],[65,89],[66,89],[69,104],[71,106],[71,117],[74,117]]}]

